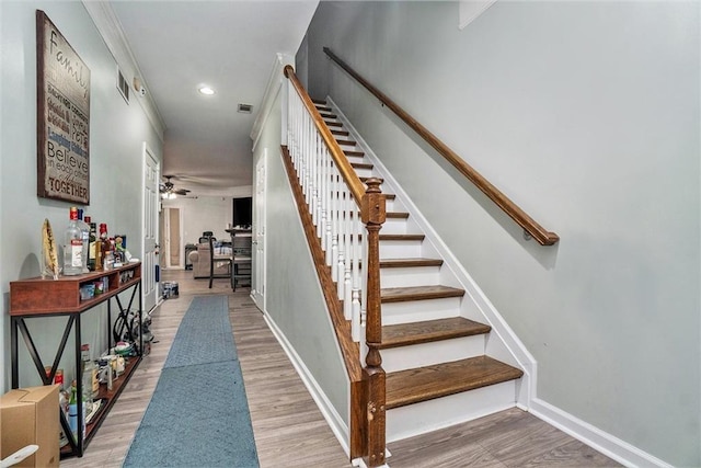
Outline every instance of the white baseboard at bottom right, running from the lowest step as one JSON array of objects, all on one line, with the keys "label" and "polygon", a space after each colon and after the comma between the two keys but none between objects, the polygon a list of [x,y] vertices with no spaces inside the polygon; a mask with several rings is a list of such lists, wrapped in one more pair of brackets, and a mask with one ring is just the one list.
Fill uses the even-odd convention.
[{"label": "white baseboard at bottom right, running from the lowest step", "polygon": [[529,411],[537,418],[570,434],[574,438],[596,448],[609,458],[628,467],[664,467],[671,465],[654,457],[620,438],[601,431],[574,415],[535,398],[530,401]]}]

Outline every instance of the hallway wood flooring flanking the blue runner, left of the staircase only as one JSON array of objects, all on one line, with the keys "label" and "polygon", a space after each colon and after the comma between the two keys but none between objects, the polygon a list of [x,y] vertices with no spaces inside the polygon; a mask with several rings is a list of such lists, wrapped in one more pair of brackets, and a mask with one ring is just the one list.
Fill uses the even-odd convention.
[{"label": "hallway wood flooring flanking the blue runner, left of the staircase only", "polygon": [[[350,467],[263,315],[251,301],[249,288],[237,288],[232,293],[228,279],[216,279],[209,289],[206,279],[193,279],[192,271],[183,270],[164,270],[161,281],[176,281],[180,296],[163,301],[152,315],[151,331],[156,342],[151,345],[151,354],[139,364],[84,456],[61,460],[61,467],[122,466],[158,384],[177,327],[192,298],[207,294],[229,296],[230,318],[261,467]],[[188,418],[183,415],[183,421]]]}]

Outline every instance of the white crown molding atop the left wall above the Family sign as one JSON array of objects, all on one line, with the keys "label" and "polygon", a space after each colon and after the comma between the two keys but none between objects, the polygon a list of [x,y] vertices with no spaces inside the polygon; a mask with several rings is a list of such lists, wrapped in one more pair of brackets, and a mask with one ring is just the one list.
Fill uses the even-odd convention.
[{"label": "white crown molding atop the left wall above the Family sign", "polygon": [[146,83],[143,73],[141,73],[141,70],[139,69],[139,65],[131,53],[131,48],[126,39],[126,35],[124,34],[124,30],[122,30],[119,20],[112,9],[112,5],[108,1],[94,0],[82,0],[82,3],[95,24],[97,33],[100,33],[102,39],[107,46],[107,49],[117,62],[122,75],[124,75],[129,82],[129,88],[133,88],[131,83],[134,82],[135,77],[138,77],[146,87],[146,95],[141,96],[136,92],[133,92],[131,95],[136,98],[135,100],[141,105],[141,109],[158,133],[159,138],[163,141],[165,124],[158,111],[156,102],[151,98],[151,93],[148,92],[148,84]]}]

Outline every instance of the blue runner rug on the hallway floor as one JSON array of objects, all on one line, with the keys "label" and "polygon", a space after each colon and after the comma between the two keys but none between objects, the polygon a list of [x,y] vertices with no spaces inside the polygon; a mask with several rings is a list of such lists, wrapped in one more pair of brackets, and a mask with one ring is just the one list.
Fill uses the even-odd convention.
[{"label": "blue runner rug on the hallway floor", "polygon": [[260,466],[226,296],[193,299],[123,466]]}]

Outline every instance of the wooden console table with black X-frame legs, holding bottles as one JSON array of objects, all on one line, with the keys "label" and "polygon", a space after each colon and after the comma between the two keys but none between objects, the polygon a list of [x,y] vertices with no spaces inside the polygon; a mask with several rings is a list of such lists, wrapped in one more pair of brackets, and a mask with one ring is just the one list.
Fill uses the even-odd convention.
[{"label": "wooden console table with black X-frame legs, holding bottles", "polygon": [[[106,284],[105,290],[92,298],[81,300],[80,288],[81,286],[94,284],[97,281],[103,281]],[[120,293],[126,293],[130,289],[129,301],[126,307],[122,305],[119,298]],[[60,424],[64,429],[64,433],[67,435],[68,445],[61,448],[61,458],[68,456],[82,457],[84,449],[87,448],[90,440],[93,437],[102,421],[107,415],[110,409],[114,406],[114,402],[118,398],[119,393],[126,386],[129,377],[134,374],[134,370],[141,361],[143,350],[143,338],[141,333],[141,263],[129,263],[120,267],[116,267],[110,271],[91,272],[77,276],[60,276],[58,279],[53,278],[28,278],[10,282],[10,321],[11,321],[11,354],[12,354],[12,388],[20,387],[20,363],[19,363],[19,334],[22,334],[26,344],[27,351],[36,372],[42,377],[44,385],[51,385],[56,370],[61,361],[61,356],[66,350],[71,330],[74,330],[74,346],[72,352],[74,353],[76,363],[76,385],[77,385],[77,398],[78,398],[78,421],[83,420],[83,406],[82,406],[82,376],[81,376],[81,327],[80,319],[82,313],[88,312],[95,306],[107,303],[107,345],[112,347],[114,340],[112,336],[112,303],[116,303],[119,310],[119,315],[126,315],[131,309],[135,299],[138,298],[138,330],[139,342],[134,343],[136,347],[136,355],[128,357],[128,363],[124,374],[113,383],[112,390],[107,390],[105,386],[100,387],[100,393],[97,399],[103,400],[103,404],[99,410],[99,413],[92,419],[92,421],[85,425],[85,433],[83,434],[82,424],[78,424],[77,441],[71,437],[71,431],[68,424],[68,420],[62,411],[60,414]],[[47,375],[48,366],[44,366],[42,358],[34,344],[32,335],[26,327],[26,320],[41,319],[42,317],[68,317],[64,334],[60,340],[58,350],[54,356],[50,372]],[[65,383],[65,385],[68,385]],[[58,437],[58,434],[56,434]]]}]

